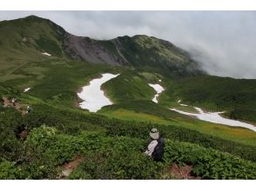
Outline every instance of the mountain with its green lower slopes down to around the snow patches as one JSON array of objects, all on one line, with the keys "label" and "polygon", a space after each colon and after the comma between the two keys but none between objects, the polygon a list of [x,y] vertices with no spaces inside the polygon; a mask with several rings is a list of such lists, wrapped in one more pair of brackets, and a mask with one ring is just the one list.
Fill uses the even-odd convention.
[{"label": "mountain with its green lower slopes down to around the snow patches", "polygon": [[151,100],[154,89],[148,83],[162,79],[162,107],[168,109],[182,98],[207,110],[226,110],[235,119],[256,121],[255,80],[208,76],[170,42],[143,35],[111,40],[74,36],[38,16],[0,22],[0,82],[19,90],[31,86],[31,95],[62,98],[71,105],[77,89],[102,71],[121,73],[103,85],[118,104]]}]

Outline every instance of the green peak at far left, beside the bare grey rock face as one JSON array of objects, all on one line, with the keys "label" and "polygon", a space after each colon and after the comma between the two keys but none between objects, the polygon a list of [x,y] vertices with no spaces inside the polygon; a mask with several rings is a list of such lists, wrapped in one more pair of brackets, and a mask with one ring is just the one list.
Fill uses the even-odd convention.
[{"label": "green peak at far left, beside the bare grey rock face", "polygon": [[[63,57],[64,30],[50,20],[28,16],[0,22],[0,57],[3,63],[44,60],[41,53]],[[1,71],[4,68],[1,68]]]}]

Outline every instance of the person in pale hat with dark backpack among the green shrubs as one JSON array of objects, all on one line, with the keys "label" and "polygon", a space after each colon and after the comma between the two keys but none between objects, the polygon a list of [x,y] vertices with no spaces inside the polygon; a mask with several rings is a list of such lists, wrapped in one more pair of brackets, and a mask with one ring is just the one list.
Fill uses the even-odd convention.
[{"label": "person in pale hat with dark backpack among the green shrubs", "polygon": [[145,155],[150,155],[155,161],[162,161],[165,152],[165,140],[160,137],[158,129],[152,128],[151,139],[145,151]]}]

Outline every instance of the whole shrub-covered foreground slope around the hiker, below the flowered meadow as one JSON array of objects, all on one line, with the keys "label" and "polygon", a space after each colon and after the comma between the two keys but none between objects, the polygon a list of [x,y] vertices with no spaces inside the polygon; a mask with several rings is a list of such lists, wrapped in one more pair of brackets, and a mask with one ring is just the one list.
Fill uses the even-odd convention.
[{"label": "whole shrub-covered foreground slope around the hiker, below the flowered meadow", "polygon": [[[256,176],[254,162],[235,156],[255,161],[256,155],[249,151],[255,148],[198,136],[194,131],[179,132],[172,126],[159,126],[165,135],[165,161],[154,162],[142,154],[150,128],[143,123],[109,120],[47,105],[38,105],[24,117],[13,109],[5,109],[0,115],[1,138],[9,137],[0,145],[1,179],[56,179],[65,162],[77,156],[83,162],[75,168],[71,179],[170,179],[172,175],[166,175],[170,174],[166,170],[172,162],[192,165],[192,174],[205,179],[255,179]],[[15,136],[22,128],[17,121],[28,124],[29,136],[25,142]],[[42,123],[51,128],[39,128]],[[190,136],[199,138],[205,146],[210,143],[210,147],[215,140],[225,151],[235,151],[234,155],[181,142],[194,142]]]}]

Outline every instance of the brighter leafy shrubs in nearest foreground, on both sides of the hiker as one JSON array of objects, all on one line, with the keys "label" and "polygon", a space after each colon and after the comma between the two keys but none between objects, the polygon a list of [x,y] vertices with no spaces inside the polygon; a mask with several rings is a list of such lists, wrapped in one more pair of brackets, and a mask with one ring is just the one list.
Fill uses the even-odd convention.
[{"label": "brighter leafy shrubs in nearest foreground, on both sides of the hiker", "polygon": [[43,126],[32,130],[24,144],[27,153],[32,151],[30,162],[14,166],[0,161],[1,179],[57,179],[64,162],[72,161],[76,155],[83,162],[71,173],[71,179],[172,179],[172,173],[167,171],[172,162],[192,165],[193,175],[204,179],[255,179],[256,176],[253,162],[172,140],[166,140],[164,162],[152,161],[142,154],[145,140],[97,132],[83,131],[72,136]]}]

